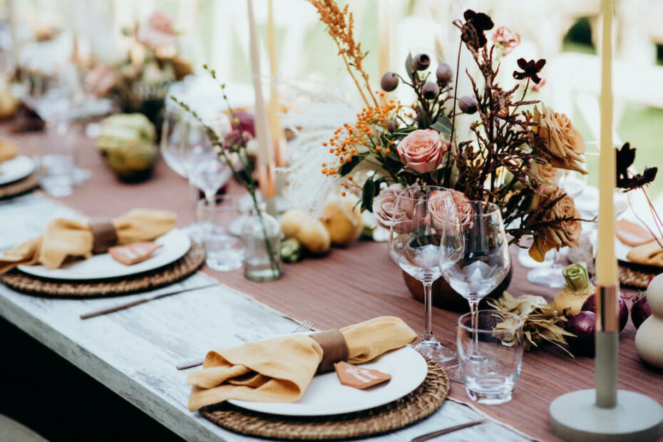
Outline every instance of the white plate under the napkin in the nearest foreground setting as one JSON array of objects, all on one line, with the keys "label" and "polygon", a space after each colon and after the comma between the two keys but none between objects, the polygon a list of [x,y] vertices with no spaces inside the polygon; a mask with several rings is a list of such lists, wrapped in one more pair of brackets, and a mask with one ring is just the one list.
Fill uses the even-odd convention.
[{"label": "white plate under the napkin in the nearest foreground setting", "polygon": [[315,376],[299,401],[294,403],[228,402],[247,410],[280,416],[331,416],[352,413],[401,399],[421,385],[428,373],[423,356],[408,346],[391,351],[375,361],[361,364],[361,367],[391,374],[391,380],[386,384],[358,390],[341,384],[336,371],[330,371]]}]

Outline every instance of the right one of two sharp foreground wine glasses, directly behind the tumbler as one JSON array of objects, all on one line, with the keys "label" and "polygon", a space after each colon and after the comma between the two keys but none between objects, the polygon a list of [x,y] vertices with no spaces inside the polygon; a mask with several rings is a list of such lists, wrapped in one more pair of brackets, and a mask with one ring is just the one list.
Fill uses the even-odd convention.
[{"label": "right one of two sharp foreground wine glasses, directly behind the tumbler", "polygon": [[[476,329],[480,300],[498,287],[511,267],[509,244],[497,205],[466,201],[456,202],[455,207],[455,216],[448,217],[441,231],[439,269],[451,288],[470,303]],[[474,338],[473,359],[491,364],[478,351],[477,334]]]}]

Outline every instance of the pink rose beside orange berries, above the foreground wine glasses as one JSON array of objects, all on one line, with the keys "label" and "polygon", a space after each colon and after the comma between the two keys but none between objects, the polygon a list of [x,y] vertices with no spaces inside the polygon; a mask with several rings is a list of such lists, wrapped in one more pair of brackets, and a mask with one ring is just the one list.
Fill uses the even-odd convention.
[{"label": "pink rose beside orange berries, above the foreground wine glasses", "polygon": [[415,172],[428,173],[438,168],[446,153],[446,143],[437,130],[418,129],[403,138],[396,150],[401,155],[401,163]]}]

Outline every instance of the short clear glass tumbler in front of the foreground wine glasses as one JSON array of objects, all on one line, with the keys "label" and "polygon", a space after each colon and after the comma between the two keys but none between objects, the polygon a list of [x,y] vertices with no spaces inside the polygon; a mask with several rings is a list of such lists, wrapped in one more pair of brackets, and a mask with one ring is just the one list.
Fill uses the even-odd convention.
[{"label": "short clear glass tumbler in front of the foreground wine glasses", "polygon": [[[480,404],[511,400],[523,361],[522,325],[518,315],[497,310],[480,310],[458,318],[458,359],[470,399]],[[477,351],[483,359],[476,359]],[[485,360],[493,361],[493,366]]]}]

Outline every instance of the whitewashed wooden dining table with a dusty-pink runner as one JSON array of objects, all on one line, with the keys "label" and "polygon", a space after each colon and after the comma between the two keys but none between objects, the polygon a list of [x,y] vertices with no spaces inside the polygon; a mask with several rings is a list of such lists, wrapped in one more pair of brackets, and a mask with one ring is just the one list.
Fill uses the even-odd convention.
[{"label": "whitewashed wooden dining table with a dusty-pink runner", "polygon": [[[14,140],[26,155],[38,157],[48,149],[43,134],[17,135],[0,125],[0,135]],[[71,195],[53,198],[37,190],[0,201],[0,250],[38,235],[53,217],[108,218],[148,207],[175,212],[180,227],[190,225],[194,220],[190,187],[163,158],[148,180],[125,183],[104,163],[94,143],[83,133],[76,138],[78,167],[90,170],[91,178],[77,185]],[[228,192],[240,190],[235,183],[227,187]],[[520,265],[516,254],[512,247],[508,292],[552,300],[557,290],[528,282],[528,269]],[[175,368],[183,361],[202,358],[211,349],[292,332],[307,319],[315,329],[324,330],[389,315],[423,333],[423,304],[408,291],[386,242],[359,240],[333,247],[323,256],[284,264],[283,276],[273,282],[252,282],[242,269],[216,272],[203,266],[178,284],[190,289],[86,320],[80,315],[154,297],[173,287],[123,297],[53,299],[0,284],[0,315],[187,441],[255,438],[227,431],[187,410],[187,372]],[[455,348],[458,316],[433,307],[433,332],[451,348]],[[629,321],[620,335],[620,388],[647,394],[663,404],[663,372],[640,361],[635,333]],[[593,374],[592,357],[573,357],[542,344],[525,353],[513,399],[507,404],[476,404],[462,384],[451,382],[448,399],[431,416],[367,439],[411,440],[485,418],[485,423],[457,431],[448,440],[557,441],[550,427],[551,401],[570,391],[593,388]]]}]

